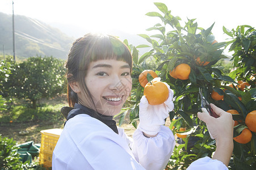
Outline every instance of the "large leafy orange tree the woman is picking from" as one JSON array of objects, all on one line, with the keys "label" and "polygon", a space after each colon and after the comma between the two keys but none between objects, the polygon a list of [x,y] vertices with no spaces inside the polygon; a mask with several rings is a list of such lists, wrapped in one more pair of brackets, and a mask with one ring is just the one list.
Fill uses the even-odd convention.
[{"label": "large leafy orange tree the woman is picking from", "polygon": [[[155,35],[141,34],[150,45],[129,45],[125,40],[125,44],[131,49],[133,54],[133,89],[128,103],[131,104],[129,109],[124,109],[121,113],[120,122],[123,121],[125,114],[129,113],[131,123],[137,127],[139,120],[139,103],[143,95],[144,88],[140,86],[139,75],[143,70],[154,70],[161,77],[161,81],[170,85],[174,90],[174,111],[170,112],[171,125],[173,133],[187,135],[182,138],[180,145],[175,146],[173,155],[170,158],[169,167],[186,169],[196,159],[204,156],[212,156],[215,151],[215,140],[209,137],[208,130],[204,122],[200,121],[196,116],[200,109],[199,88],[202,88],[205,98],[209,103],[214,103],[218,107],[228,111],[229,109],[237,109],[245,116],[247,113],[244,104],[238,99],[236,90],[225,84],[233,83],[237,85],[230,76],[223,75],[219,67],[215,67],[215,63],[221,58],[226,58],[223,55],[225,42],[216,42],[211,30],[213,25],[207,29],[198,27],[195,19],[188,19],[182,26],[181,18],[171,15],[163,3],[154,3],[162,12],[148,12],[146,15],[154,16],[161,19],[162,23],[155,24],[148,31],[158,31]],[[150,47],[151,49],[139,57],[137,49]],[[156,63],[156,65],[152,65]],[[179,74],[178,66],[186,64],[190,67],[190,73],[187,78],[179,79],[173,76]],[[156,67],[155,67],[156,66]],[[183,65],[185,66],[185,65]],[[183,70],[182,69],[182,70]],[[186,74],[186,73],[182,73]],[[150,79],[150,75],[147,76]],[[152,79],[152,77],[151,77]],[[224,91],[224,89],[227,89]],[[213,100],[212,92],[215,91],[219,95],[223,95],[223,100]],[[248,94],[247,94],[248,95]],[[252,95],[251,95],[252,96]],[[241,115],[236,115],[237,120],[242,118]],[[245,125],[240,125],[245,128]],[[173,128],[174,127],[174,128]],[[184,131],[180,129],[186,129]],[[242,131],[242,129],[240,129]],[[229,145],[227,143],[227,145]],[[247,149],[248,152],[253,152],[254,143]],[[238,148],[239,150],[239,148]],[[239,152],[239,151],[238,151]],[[251,156],[252,159],[253,156]],[[232,159],[230,166],[235,160]],[[250,163],[246,163],[249,167],[254,163],[250,159]],[[241,163],[238,167],[243,167]],[[174,168],[174,169],[175,169]],[[238,168],[239,169],[239,168]]]}]

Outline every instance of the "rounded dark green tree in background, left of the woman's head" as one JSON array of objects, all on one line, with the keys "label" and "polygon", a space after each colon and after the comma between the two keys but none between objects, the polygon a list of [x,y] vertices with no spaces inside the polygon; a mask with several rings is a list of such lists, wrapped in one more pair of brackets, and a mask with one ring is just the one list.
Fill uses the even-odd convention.
[{"label": "rounded dark green tree in background, left of the woman's head", "polygon": [[30,57],[21,63],[11,62],[13,67],[9,77],[2,80],[4,97],[28,99],[35,109],[40,99],[61,94],[64,88],[64,61],[53,57]]}]

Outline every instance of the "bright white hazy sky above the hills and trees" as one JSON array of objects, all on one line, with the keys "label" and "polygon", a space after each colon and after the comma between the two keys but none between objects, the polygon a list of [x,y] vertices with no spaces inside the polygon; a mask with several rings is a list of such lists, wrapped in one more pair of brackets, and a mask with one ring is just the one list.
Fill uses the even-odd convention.
[{"label": "bright white hazy sky above the hills and trees", "polygon": [[[199,27],[208,28],[215,22],[212,32],[220,41],[225,39],[223,25],[228,29],[242,24],[256,27],[255,0],[14,0],[14,14],[49,24],[72,24],[91,32],[121,30],[140,34],[161,22],[145,15],[151,11],[161,13],[153,2],[165,3],[171,14],[183,21],[196,18]],[[12,14],[12,1],[0,0],[0,12]]]}]

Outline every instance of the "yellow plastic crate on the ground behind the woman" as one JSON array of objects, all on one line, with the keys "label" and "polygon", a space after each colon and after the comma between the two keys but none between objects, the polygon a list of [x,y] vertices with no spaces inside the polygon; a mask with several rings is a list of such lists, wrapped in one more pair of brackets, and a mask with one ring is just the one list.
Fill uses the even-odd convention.
[{"label": "yellow plastic crate on the ground behind the woman", "polygon": [[52,167],[52,152],[58,138],[60,138],[62,129],[41,130],[41,147],[39,153],[39,164],[44,167]]}]

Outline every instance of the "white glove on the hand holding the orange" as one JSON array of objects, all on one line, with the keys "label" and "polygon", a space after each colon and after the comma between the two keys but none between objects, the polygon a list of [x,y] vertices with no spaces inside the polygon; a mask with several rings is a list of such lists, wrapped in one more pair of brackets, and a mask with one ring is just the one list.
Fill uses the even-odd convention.
[{"label": "white glove on the hand holding the orange", "polygon": [[156,135],[161,125],[165,124],[165,118],[169,116],[169,112],[173,111],[173,90],[165,83],[169,89],[169,97],[163,104],[150,105],[146,96],[142,96],[140,100],[140,124],[138,129],[149,135]]}]

